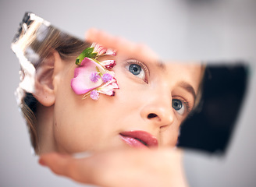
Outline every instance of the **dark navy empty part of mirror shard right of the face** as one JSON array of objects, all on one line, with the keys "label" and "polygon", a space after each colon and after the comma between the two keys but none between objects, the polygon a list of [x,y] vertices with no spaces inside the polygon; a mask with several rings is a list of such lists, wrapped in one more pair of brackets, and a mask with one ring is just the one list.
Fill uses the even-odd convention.
[{"label": "dark navy empty part of mirror shard right of the face", "polygon": [[249,67],[240,61],[206,66],[200,106],[183,123],[178,146],[226,153],[243,106],[248,74]]}]

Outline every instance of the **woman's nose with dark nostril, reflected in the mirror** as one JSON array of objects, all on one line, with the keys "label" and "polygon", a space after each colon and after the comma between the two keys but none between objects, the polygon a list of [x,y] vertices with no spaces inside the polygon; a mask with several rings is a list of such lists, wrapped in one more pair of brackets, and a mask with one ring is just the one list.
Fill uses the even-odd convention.
[{"label": "woman's nose with dark nostril, reflected in the mirror", "polygon": [[172,125],[174,121],[172,98],[159,97],[159,95],[155,99],[151,97],[148,104],[145,104],[141,109],[140,116],[145,121],[151,122],[159,127]]}]

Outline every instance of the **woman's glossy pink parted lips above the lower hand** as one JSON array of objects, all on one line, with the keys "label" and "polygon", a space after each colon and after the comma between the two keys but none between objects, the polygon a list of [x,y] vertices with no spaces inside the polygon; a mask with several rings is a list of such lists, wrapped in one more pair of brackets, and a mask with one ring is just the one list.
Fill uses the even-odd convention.
[{"label": "woman's glossy pink parted lips above the lower hand", "polygon": [[157,147],[158,139],[145,131],[127,131],[119,133],[125,143],[133,147]]}]

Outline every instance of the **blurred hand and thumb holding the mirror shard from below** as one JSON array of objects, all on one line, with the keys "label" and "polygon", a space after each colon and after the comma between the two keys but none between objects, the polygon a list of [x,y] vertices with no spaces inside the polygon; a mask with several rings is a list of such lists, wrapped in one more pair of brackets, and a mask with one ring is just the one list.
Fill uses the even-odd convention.
[{"label": "blurred hand and thumb holding the mirror shard from below", "polygon": [[180,150],[108,150],[91,157],[41,155],[39,163],[57,175],[100,186],[187,186]]}]

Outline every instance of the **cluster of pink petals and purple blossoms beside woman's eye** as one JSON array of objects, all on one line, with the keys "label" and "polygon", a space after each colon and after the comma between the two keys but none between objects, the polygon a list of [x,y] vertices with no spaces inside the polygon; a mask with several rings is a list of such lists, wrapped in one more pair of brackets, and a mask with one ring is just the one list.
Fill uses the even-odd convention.
[{"label": "cluster of pink petals and purple blossoms beside woman's eye", "polygon": [[103,48],[99,44],[92,44],[86,48],[77,58],[74,78],[71,79],[71,88],[76,94],[89,95],[91,99],[98,100],[99,94],[114,96],[114,89],[119,89],[115,72],[110,71],[116,62],[105,60],[99,62],[97,58],[103,55],[116,55],[116,51]]}]

